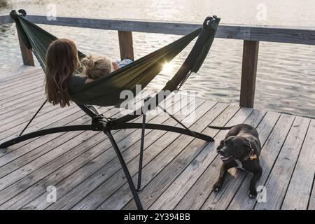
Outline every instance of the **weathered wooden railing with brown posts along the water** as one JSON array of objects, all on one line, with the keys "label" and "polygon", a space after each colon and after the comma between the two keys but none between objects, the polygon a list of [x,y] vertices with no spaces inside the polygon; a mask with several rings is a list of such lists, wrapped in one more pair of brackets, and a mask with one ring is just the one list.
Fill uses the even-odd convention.
[{"label": "weathered wooden railing with brown posts along the water", "polygon": [[[184,22],[157,22],[148,20],[106,20],[90,18],[57,17],[48,20],[42,15],[27,15],[36,24],[117,30],[120,57],[134,59],[132,31],[184,35],[199,28],[201,24]],[[14,22],[8,15],[0,15],[0,25]],[[216,38],[244,40],[241,69],[239,105],[253,107],[258,64],[259,41],[315,45],[315,28],[220,25]],[[20,41],[20,37],[19,37]],[[34,65],[31,51],[20,41],[23,63]]]}]

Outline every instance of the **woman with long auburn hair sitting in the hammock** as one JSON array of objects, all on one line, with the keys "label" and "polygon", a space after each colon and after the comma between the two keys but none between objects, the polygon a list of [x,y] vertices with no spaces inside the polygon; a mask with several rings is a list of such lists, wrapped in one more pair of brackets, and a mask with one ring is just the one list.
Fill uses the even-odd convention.
[{"label": "woman with long auburn hair sitting in the hammock", "polygon": [[69,39],[53,41],[46,54],[45,92],[48,102],[53,105],[70,106],[68,89],[93,81],[74,72],[79,68],[76,44]]}]

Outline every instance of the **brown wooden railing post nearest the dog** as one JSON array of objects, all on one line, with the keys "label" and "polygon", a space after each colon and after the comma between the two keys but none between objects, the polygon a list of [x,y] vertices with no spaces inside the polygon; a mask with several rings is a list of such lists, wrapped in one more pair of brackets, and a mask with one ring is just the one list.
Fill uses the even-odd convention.
[{"label": "brown wooden railing post nearest the dog", "polygon": [[253,108],[259,41],[244,41],[239,106]]}]

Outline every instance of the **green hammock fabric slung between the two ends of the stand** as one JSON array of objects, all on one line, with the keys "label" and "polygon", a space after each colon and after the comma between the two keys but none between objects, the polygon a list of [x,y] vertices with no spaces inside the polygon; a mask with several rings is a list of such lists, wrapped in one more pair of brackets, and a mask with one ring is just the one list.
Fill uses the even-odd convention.
[{"label": "green hammock fabric slung between the two ends of the stand", "polygon": [[[21,14],[18,14],[13,10],[10,13],[10,16],[16,22],[22,41],[27,45],[27,48],[33,50],[41,67],[45,69],[46,51],[50,43],[55,41],[57,37],[26,20],[24,18],[25,13],[23,14],[23,10],[19,11],[19,13]],[[214,40],[218,22],[219,19],[216,18],[216,21],[211,24],[211,30],[209,31],[207,41],[199,52],[197,52],[197,55],[194,56],[195,61],[190,65],[188,71],[197,72],[200,69],[204,58],[209,52],[211,43]],[[163,65],[176,57],[176,55],[186,48],[186,46],[193,41],[201,31],[202,28],[197,29],[190,34],[179,38],[177,41],[174,41],[159,50],[155,50],[155,52],[141,57],[121,69],[113,71],[107,76],[103,76],[91,83],[69,90],[73,102],[76,102],[76,104],[92,104],[98,106],[113,106],[120,104],[120,102],[125,100],[120,99],[120,92],[123,90],[131,90],[135,94],[136,85],[141,85],[142,89],[144,89],[144,87],[146,87],[146,85],[160,73]],[[78,56],[80,58],[85,57],[80,51],[78,51]],[[78,73],[78,71],[76,72]],[[177,77],[177,79],[179,79],[177,85],[180,81],[186,79],[186,76],[187,72],[184,76],[181,75],[181,77]],[[174,80],[172,83],[174,83]],[[173,89],[175,88],[176,87],[173,87]]]}]

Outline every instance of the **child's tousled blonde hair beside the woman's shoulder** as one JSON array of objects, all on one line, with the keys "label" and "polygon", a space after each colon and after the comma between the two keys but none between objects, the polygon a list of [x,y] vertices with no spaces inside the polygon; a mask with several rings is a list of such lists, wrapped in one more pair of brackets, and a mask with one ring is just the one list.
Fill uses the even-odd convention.
[{"label": "child's tousled blonde hair beside the woman's shoulder", "polygon": [[85,66],[83,72],[87,78],[97,79],[106,74],[111,73],[113,66],[107,57],[94,57],[92,55],[82,59],[82,64]]}]

